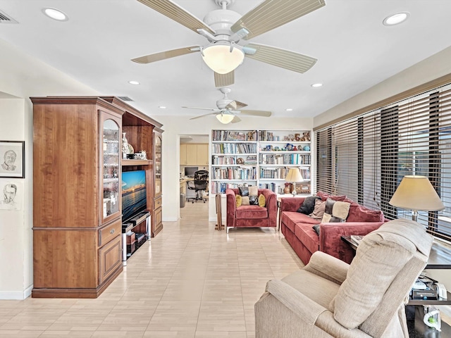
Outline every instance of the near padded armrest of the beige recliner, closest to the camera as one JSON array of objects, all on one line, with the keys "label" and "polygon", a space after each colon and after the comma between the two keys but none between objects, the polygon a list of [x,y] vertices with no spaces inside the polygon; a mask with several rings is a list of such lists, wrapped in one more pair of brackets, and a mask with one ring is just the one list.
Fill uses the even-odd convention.
[{"label": "near padded armrest of the beige recliner, closest to the camera", "polygon": [[314,326],[316,318],[321,313],[328,311],[323,306],[301,294],[294,287],[291,287],[281,280],[270,280],[266,283],[266,292],[272,294],[280,303],[283,303],[293,313],[302,318],[302,321],[310,326]]}]

